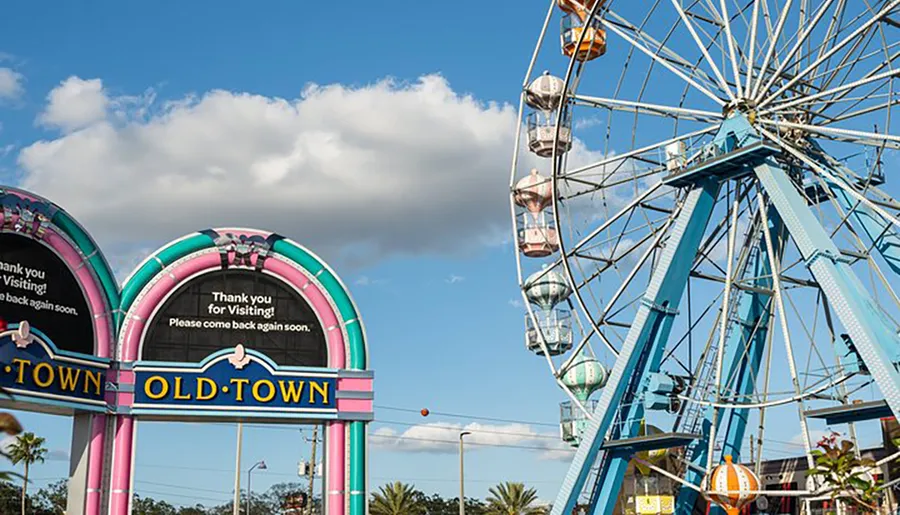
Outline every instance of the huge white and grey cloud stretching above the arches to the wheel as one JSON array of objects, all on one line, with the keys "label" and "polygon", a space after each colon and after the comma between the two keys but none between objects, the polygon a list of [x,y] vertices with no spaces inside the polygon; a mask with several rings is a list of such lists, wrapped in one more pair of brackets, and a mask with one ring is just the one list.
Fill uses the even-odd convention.
[{"label": "huge white and grey cloud stretching above the arches to the wheel", "polygon": [[[107,252],[237,225],[347,266],[467,252],[509,231],[514,109],[436,75],[311,86],[296,99],[216,90],[166,101],[71,77],[40,119],[64,132],[21,150],[21,185],[65,206]],[[592,158],[580,143],[570,153]],[[522,173],[532,166],[547,173],[524,153]]]}]

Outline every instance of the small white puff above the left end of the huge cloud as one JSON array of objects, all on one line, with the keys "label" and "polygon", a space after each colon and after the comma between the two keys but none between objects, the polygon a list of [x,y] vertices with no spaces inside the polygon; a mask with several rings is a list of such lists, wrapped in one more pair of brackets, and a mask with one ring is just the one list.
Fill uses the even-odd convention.
[{"label": "small white puff above the left end of the huge cloud", "polygon": [[47,95],[47,107],[38,122],[72,131],[106,118],[110,99],[100,79],[69,77]]}]

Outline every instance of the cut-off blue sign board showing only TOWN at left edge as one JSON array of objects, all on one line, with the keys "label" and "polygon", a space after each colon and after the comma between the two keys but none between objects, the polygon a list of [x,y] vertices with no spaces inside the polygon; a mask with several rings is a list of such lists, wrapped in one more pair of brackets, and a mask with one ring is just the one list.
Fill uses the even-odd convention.
[{"label": "cut-off blue sign board showing only TOWN at left edge", "polygon": [[0,387],[13,400],[57,408],[106,411],[109,361],[60,351],[27,322],[0,331]]}]

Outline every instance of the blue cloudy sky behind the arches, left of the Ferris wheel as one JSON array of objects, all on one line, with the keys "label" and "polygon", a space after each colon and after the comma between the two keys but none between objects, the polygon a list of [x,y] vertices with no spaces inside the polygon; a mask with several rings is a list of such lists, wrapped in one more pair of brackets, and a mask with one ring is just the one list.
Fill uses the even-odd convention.
[{"label": "blue cloudy sky behind the arches, left of the Ferris wheel", "polygon": [[[506,204],[513,104],[545,3],[113,5],[5,8],[0,69],[17,87],[0,89],[0,184],[66,207],[122,278],[209,226],[304,243],[366,321],[371,486],[399,479],[454,495],[455,446],[430,440],[483,424],[467,494],[520,480],[552,499],[567,468],[549,452],[563,398],[524,349]],[[565,61],[541,65],[561,74]],[[21,418],[54,451],[37,484],[64,477],[69,421]],[[296,479],[308,434],[245,434],[245,463],[269,466],[254,490]],[[138,435],[139,494],[230,498],[233,425],[148,423]],[[769,452],[798,452],[791,438]]]}]

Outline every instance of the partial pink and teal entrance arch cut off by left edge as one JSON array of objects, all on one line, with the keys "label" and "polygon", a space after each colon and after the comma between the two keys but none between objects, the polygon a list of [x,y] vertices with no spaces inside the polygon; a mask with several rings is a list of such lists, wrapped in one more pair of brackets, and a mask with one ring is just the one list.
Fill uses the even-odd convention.
[{"label": "partial pink and teal entrance arch cut off by left edge", "polygon": [[101,513],[105,383],[119,289],[62,208],[0,187],[0,385],[4,407],[73,418],[68,513]]}]

